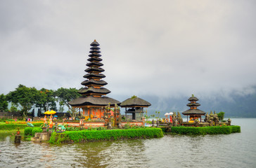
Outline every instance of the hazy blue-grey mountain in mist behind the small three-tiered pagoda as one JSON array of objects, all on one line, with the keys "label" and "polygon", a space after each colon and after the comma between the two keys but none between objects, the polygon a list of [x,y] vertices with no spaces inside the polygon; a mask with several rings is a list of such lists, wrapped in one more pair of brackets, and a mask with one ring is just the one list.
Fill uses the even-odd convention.
[{"label": "hazy blue-grey mountain in mist behind the small three-tiered pagoda", "polygon": [[[131,95],[132,96],[132,95]],[[197,95],[195,95],[198,97]],[[140,96],[139,96],[140,97]],[[165,113],[179,111],[180,113],[186,111],[188,106],[188,97],[179,98],[163,98],[163,97],[153,97],[153,96],[142,96],[140,98],[145,99],[152,105],[148,107],[148,115],[155,114],[155,111],[160,111],[160,117],[163,118]],[[116,97],[117,98],[117,97]],[[129,97],[118,97],[117,99],[122,102]],[[233,118],[256,118],[256,92],[247,95],[237,95],[236,93],[229,95],[229,99],[223,98],[221,96],[215,97],[215,99],[201,98],[198,97],[198,103],[201,106],[198,109],[209,112],[216,111],[219,113],[223,111],[225,117]],[[124,109],[122,109],[122,112]]]}]

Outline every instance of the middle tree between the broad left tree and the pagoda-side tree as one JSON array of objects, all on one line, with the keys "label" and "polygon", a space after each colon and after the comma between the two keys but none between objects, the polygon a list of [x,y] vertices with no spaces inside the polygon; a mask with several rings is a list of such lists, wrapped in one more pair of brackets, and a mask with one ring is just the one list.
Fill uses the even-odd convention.
[{"label": "middle tree between the broad left tree and the pagoda-side tree", "polygon": [[53,90],[46,90],[42,88],[38,91],[38,97],[36,100],[36,106],[44,111],[57,111],[55,92]]}]

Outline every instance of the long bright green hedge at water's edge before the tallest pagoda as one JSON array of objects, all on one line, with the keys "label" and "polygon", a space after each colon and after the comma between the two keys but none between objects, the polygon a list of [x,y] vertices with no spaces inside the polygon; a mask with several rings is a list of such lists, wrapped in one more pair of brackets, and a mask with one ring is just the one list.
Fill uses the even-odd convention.
[{"label": "long bright green hedge at water's edge before the tallest pagoda", "polygon": [[101,141],[117,139],[139,139],[163,137],[160,128],[130,129],[130,130],[92,130],[92,131],[66,131],[63,133],[53,132],[50,143],[60,144],[65,142]]}]

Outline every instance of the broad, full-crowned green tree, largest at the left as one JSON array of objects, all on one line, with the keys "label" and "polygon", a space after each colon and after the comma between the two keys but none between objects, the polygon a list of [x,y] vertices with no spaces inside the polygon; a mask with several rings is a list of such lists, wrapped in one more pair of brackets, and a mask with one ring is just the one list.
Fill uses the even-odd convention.
[{"label": "broad, full-crowned green tree, largest at the left", "polygon": [[6,95],[8,102],[19,104],[23,108],[22,113],[24,117],[27,117],[28,111],[32,109],[38,97],[38,90],[36,88],[26,87],[25,85],[19,85],[14,91]]}]

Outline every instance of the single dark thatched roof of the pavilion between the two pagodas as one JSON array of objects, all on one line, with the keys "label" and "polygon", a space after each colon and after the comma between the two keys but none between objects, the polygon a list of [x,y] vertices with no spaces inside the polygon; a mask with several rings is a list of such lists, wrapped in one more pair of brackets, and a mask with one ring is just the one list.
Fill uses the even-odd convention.
[{"label": "single dark thatched roof of the pavilion between the two pagodas", "polygon": [[132,97],[129,99],[124,100],[120,104],[121,107],[132,107],[132,106],[151,106],[149,102],[146,102],[146,100],[143,100],[139,97]]}]

